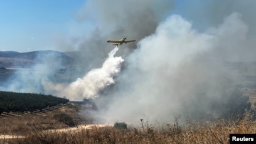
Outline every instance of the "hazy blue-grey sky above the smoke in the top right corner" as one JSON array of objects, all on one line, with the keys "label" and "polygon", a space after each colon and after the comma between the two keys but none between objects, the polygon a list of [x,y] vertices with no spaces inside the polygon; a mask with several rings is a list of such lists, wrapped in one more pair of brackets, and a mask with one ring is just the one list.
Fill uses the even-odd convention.
[{"label": "hazy blue-grey sky above the smoke in the top right corner", "polygon": [[206,29],[209,26],[218,26],[223,19],[234,12],[242,14],[242,21],[244,21],[250,31],[248,34],[256,34],[254,18],[256,8],[256,1],[247,0],[225,0],[225,1],[187,1],[183,3],[183,9],[186,11],[185,18],[193,21],[193,26],[198,29]]}]

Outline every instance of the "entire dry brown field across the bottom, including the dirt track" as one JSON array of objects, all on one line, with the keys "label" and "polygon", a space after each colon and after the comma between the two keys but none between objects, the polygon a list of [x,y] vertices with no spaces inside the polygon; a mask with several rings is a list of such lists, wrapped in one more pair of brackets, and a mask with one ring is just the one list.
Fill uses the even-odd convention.
[{"label": "entire dry brown field across the bottom, including the dirt track", "polygon": [[[61,105],[33,113],[3,113],[0,115],[0,143],[229,143],[230,133],[256,133],[253,113],[242,119],[216,121],[187,120],[152,125],[138,120],[127,129],[112,125],[88,125],[90,116],[78,115],[78,105]],[[85,109],[83,109],[85,110]],[[73,127],[56,119],[65,114],[75,121]],[[238,116],[239,117],[239,116]]]}]

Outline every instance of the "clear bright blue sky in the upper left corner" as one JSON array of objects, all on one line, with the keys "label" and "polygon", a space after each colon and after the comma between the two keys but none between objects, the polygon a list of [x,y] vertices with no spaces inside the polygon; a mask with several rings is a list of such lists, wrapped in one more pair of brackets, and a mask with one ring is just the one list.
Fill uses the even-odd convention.
[{"label": "clear bright blue sky in the upper left corner", "polygon": [[[55,49],[55,41],[85,30],[75,17],[85,0],[0,1],[0,51]],[[57,40],[56,40],[57,39]]]}]

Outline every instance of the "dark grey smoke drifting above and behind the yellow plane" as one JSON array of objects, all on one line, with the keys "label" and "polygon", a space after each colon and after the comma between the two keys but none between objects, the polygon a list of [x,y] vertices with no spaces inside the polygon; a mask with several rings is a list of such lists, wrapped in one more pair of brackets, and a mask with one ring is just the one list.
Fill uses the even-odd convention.
[{"label": "dark grey smoke drifting above and behind the yellow plane", "polygon": [[[78,49],[81,55],[77,56],[77,68],[84,71],[99,67],[107,53],[111,51],[112,44],[107,40],[119,40],[123,36],[128,39],[140,39],[154,33],[157,24],[174,7],[173,1],[100,1],[88,0],[84,6],[78,10],[78,23],[93,21],[95,29],[90,34],[82,37],[74,37],[74,43],[67,46],[65,51]],[[60,44],[63,46],[62,44]],[[126,56],[132,49],[136,48],[136,43],[123,44],[119,49],[118,56]],[[63,51],[63,47],[60,48]]]}]

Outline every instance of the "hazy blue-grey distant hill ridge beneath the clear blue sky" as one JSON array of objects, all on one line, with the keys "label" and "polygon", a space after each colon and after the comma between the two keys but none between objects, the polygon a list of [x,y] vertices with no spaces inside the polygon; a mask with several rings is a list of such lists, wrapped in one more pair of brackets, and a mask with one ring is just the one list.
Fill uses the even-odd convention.
[{"label": "hazy blue-grey distant hill ridge beneath the clear blue sky", "polygon": [[30,68],[44,59],[56,59],[64,65],[73,61],[73,58],[58,51],[31,51],[27,53],[0,51],[0,68]]}]

